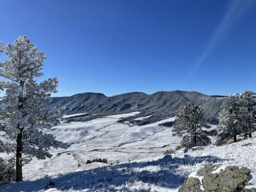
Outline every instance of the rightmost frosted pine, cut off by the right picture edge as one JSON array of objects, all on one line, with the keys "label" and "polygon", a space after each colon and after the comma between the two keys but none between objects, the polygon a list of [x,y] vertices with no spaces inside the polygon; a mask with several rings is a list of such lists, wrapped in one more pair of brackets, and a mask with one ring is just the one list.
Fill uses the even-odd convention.
[{"label": "rightmost frosted pine, cut off by the right picture edge", "polygon": [[246,91],[239,96],[241,122],[243,125],[243,134],[251,137],[251,134],[256,131],[256,111],[255,101],[252,98],[252,92]]}]

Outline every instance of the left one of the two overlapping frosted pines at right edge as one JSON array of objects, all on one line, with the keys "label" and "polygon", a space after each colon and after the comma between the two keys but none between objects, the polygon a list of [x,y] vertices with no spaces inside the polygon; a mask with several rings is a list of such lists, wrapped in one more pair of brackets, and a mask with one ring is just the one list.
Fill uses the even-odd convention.
[{"label": "left one of the two overlapping frosted pines at right edge", "polygon": [[229,96],[222,104],[217,126],[217,145],[229,139],[237,142],[237,135],[242,133],[240,99],[236,95]]}]

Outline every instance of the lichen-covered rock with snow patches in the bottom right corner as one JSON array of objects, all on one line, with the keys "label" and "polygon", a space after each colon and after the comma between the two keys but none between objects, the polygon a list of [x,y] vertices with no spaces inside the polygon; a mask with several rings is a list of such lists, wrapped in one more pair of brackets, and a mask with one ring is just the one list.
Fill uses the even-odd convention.
[{"label": "lichen-covered rock with snow patches in the bottom right corner", "polygon": [[[196,177],[189,177],[180,187],[179,192],[256,192],[256,189],[246,189],[252,179],[251,170],[247,167],[222,166],[221,164],[205,164],[197,171],[197,176],[203,176],[202,183]],[[202,187],[204,190],[202,190]]]}]

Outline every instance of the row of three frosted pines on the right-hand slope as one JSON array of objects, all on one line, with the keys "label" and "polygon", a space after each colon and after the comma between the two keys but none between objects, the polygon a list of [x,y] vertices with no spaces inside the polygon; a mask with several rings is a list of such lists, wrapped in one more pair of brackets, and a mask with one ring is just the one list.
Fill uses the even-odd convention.
[{"label": "row of three frosted pines on the right-hand slope", "polygon": [[[240,95],[229,96],[221,106],[219,125],[216,129],[217,145],[232,139],[237,142],[237,136],[252,137],[256,131],[255,101],[251,91]],[[210,144],[209,136],[214,130],[208,131],[210,126],[204,118],[204,111],[197,103],[188,103],[176,115],[173,136],[181,137],[182,147],[191,148]]]}]

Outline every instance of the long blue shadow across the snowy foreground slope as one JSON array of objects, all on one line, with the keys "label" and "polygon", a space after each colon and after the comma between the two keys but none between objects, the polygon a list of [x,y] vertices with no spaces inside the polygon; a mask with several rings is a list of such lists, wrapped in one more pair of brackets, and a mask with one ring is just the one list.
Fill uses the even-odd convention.
[{"label": "long blue shadow across the snowy foreground slope", "polygon": [[[109,191],[116,191],[118,190],[116,187],[119,189],[122,187],[122,190],[130,191],[126,184],[137,181],[166,188],[177,188],[189,174],[185,171],[186,166],[193,166],[197,163],[217,163],[226,160],[228,159],[221,159],[216,156],[172,158],[166,155],[162,159],[154,161],[103,166],[66,174],[55,179],[42,178],[36,181],[3,184],[0,185],[0,191],[38,191],[45,189],[50,180],[55,183],[54,188],[64,191],[69,189],[88,189],[87,191],[108,189]],[[182,169],[182,166],[185,167]],[[137,191],[147,190],[138,189]]]}]

